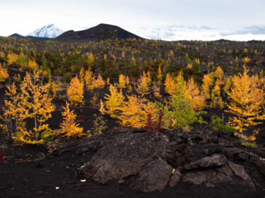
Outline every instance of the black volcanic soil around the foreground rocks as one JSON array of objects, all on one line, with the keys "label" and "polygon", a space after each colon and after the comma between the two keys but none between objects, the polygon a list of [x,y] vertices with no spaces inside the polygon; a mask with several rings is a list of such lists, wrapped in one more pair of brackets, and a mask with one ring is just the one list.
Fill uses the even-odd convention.
[{"label": "black volcanic soil around the foreground rocks", "polygon": [[[96,153],[100,142],[110,140],[119,133],[110,131],[90,139],[63,139],[61,143],[66,145],[52,154],[48,154],[43,146],[2,144],[8,147],[4,149],[6,162],[0,164],[0,197],[265,197],[265,186],[257,187],[253,192],[237,182],[213,188],[180,182],[175,187],[165,187],[162,192],[143,193],[131,190],[126,183],[117,180],[103,185],[76,177],[77,168]],[[91,144],[92,149],[80,154],[79,149],[84,144]],[[192,161],[204,157],[206,149],[219,147],[218,144],[191,145],[194,154]],[[262,149],[257,150],[264,158]]]}]

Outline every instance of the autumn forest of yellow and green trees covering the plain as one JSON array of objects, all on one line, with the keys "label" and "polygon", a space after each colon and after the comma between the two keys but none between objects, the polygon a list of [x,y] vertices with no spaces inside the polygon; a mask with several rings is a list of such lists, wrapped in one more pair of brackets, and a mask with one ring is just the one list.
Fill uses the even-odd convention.
[{"label": "autumn forest of yellow and green trees covering the plain", "polygon": [[[217,130],[257,147],[264,68],[265,42],[0,37],[1,136],[47,144],[100,135],[112,119],[146,131]],[[86,120],[91,128],[75,113],[86,108],[98,112]],[[49,126],[54,111],[57,128]]]}]

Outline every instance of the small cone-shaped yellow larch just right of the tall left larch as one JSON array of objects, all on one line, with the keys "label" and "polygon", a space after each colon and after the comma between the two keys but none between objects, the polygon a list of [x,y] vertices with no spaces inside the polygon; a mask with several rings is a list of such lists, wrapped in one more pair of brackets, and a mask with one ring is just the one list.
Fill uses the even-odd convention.
[{"label": "small cone-shaped yellow larch just right of the tall left larch", "polygon": [[57,130],[57,133],[64,134],[66,137],[80,137],[85,135],[83,128],[78,127],[76,124],[76,114],[69,109],[69,103],[66,102],[66,107],[63,107],[64,111],[61,115],[64,117],[63,123],[60,124],[61,129]]}]

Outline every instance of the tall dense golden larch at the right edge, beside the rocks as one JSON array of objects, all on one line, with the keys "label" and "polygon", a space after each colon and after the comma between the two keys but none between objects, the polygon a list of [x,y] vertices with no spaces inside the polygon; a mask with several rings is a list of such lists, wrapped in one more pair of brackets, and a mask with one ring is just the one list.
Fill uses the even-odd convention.
[{"label": "tall dense golden larch at the right edge, beside the rocks", "polygon": [[261,104],[264,102],[264,89],[259,88],[259,78],[252,78],[247,75],[248,70],[245,66],[244,73],[234,76],[232,88],[228,92],[230,104],[228,112],[234,114],[230,125],[237,130],[242,142],[255,140],[253,135],[247,136],[247,128],[251,125],[258,125],[265,115],[261,113]]}]

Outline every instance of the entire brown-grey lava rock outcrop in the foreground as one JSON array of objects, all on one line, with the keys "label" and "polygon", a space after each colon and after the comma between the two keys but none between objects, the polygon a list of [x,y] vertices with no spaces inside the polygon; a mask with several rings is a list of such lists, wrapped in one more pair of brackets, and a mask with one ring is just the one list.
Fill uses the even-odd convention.
[{"label": "entire brown-grey lava rock outcrop in the foreground", "polygon": [[[236,182],[249,190],[264,186],[265,161],[257,154],[216,144],[216,149],[207,150],[204,157],[193,160],[196,156],[192,149],[196,147],[189,145],[186,136],[133,130],[114,135],[78,168],[78,175],[102,183],[115,179],[143,192],[163,190],[167,185],[174,187],[179,182],[206,187]],[[206,140],[201,138],[200,142],[205,144]]]}]

